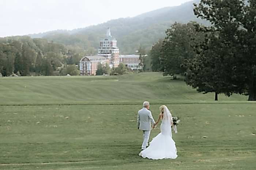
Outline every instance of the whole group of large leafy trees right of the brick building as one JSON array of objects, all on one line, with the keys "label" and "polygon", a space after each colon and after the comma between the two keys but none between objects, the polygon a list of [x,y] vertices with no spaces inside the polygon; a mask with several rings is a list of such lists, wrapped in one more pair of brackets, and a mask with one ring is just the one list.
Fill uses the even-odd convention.
[{"label": "whole group of large leafy trees right of the brick building", "polygon": [[194,14],[211,23],[174,23],[150,51],[151,68],[181,74],[197,91],[256,100],[256,0],[201,0]]}]

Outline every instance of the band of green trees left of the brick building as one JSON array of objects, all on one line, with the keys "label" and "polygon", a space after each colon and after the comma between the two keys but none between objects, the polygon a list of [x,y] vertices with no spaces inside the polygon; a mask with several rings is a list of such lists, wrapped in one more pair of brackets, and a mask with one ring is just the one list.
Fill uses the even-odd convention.
[{"label": "band of green trees left of the brick building", "polygon": [[0,39],[0,73],[2,76],[79,75],[75,64],[82,54],[46,39],[15,36]]}]

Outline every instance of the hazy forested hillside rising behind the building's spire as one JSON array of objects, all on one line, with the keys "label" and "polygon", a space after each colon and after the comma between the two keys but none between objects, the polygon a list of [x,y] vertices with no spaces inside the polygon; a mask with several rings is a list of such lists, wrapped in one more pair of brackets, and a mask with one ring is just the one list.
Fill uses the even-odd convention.
[{"label": "hazy forested hillside rising behind the building's spire", "polygon": [[153,43],[165,36],[166,29],[175,21],[187,23],[189,21],[204,21],[197,19],[193,14],[193,3],[189,1],[176,7],[165,7],[155,11],[143,13],[135,17],[110,20],[103,24],[71,31],[56,30],[51,32],[29,35],[32,38],[43,37],[56,43],[82,49],[97,49],[99,41],[104,37],[106,28],[111,28],[112,35],[117,39],[120,53],[134,53],[142,45],[150,49]]}]

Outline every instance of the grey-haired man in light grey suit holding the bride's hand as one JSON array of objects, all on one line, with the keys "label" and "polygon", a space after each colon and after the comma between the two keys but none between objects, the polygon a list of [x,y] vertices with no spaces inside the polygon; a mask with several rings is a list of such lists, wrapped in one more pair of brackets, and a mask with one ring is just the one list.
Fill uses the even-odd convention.
[{"label": "grey-haired man in light grey suit holding the bride's hand", "polygon": [[149,110],[149,102],[143,103],[143,108],[138,111],[138,129],[143,130],[143,143],[141,146],[141,150],[146,149],[150,131],[151,131],[151,123],[155,125],[155,120],[152,117],[151,111]]}]

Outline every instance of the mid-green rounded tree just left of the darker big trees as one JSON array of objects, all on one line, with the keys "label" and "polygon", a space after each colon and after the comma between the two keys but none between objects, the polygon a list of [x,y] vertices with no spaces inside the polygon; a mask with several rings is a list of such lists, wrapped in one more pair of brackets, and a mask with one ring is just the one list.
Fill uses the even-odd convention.
[{"label": "mid-green rounded tree just left of the darker big trees", "polygon": [[174,23],[166,31],[161,49],[161,71],[163,75],[184,74],[185,60],[195,58],[193,46],[203,40],[203,33],[195,29],[195,22]]}]

